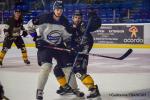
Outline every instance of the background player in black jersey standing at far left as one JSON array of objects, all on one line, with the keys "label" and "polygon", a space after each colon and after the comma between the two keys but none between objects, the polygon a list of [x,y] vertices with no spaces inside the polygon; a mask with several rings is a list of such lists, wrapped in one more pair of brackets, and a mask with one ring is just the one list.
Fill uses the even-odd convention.
[{"label": "background player in black jersey standing at far left", "polygon": [[6,22],[4,28],[5,38],[3,42],[2,51],[0,52],[1,67],[2,67],[4,56],[7,53],[7,50],[11,48],[13,42],[16,44],[18,49],[21,49],[24,63],[30,64],[30,61],[28,60],[28,56],[27,56],[27,50],[25,48],[25,43],[21,37],[21,30],[23,31],[22,36],[24,37],[27,36],[27,32],[23,27],[21,10],[15,9],[13,17]]}]

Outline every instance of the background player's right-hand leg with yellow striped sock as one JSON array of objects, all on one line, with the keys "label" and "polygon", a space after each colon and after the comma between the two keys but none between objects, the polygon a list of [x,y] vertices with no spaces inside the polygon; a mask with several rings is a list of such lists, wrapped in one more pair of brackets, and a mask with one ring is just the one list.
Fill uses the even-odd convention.
[{"label": "background player's right-hand leg with yellow striped sock", "polygon": [[18,49],[21,49],[22,53],[22,59],[25,64],[30,64],[30,61],[28,60],[27,50],[25,48],[25,43],[21,37],[17,37],[17,39],[14,41]]}]

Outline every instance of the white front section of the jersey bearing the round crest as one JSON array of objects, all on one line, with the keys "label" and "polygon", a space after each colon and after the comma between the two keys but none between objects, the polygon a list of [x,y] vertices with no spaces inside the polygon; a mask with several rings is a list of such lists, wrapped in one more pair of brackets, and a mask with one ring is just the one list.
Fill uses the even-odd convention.
[{"label": "white front section of the jersey bearing the round crest", "polygon": [[44,40],[50,45],[59,45],[61,42],[67,41],[71,37],[65,27],[56,24],[42,24],[36,28],[37,35],[40,36],[38,40]]}]

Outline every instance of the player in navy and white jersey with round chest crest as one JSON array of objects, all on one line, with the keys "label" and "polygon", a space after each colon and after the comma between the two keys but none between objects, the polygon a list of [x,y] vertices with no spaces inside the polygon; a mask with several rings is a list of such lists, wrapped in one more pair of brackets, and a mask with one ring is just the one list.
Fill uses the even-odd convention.
[{"label": "player in navy and white jersey with round chest crest", "polygon": [[[38,64],[41,66],[37,83],[37,100],[43,100],[44,87],[52,69],[52,59],[56,60],[58,66],[64,66],[65,54],[53,49],[53,47],[65,48],[71,37],[72,29],[69,21],[63,16],[63,10],[63,2],[57,0],[53,4],[53,12],[42,14],[37,20],[30,20],[27,24],[28,31],[35,29],[37,33],[34,40],[38,49]],[[57,80],[59,83],[62,81]],[[63,80],[66,80],[65,77]],[[63,82],[61,87],[65,93],[72,91],[67,83]]]}]

